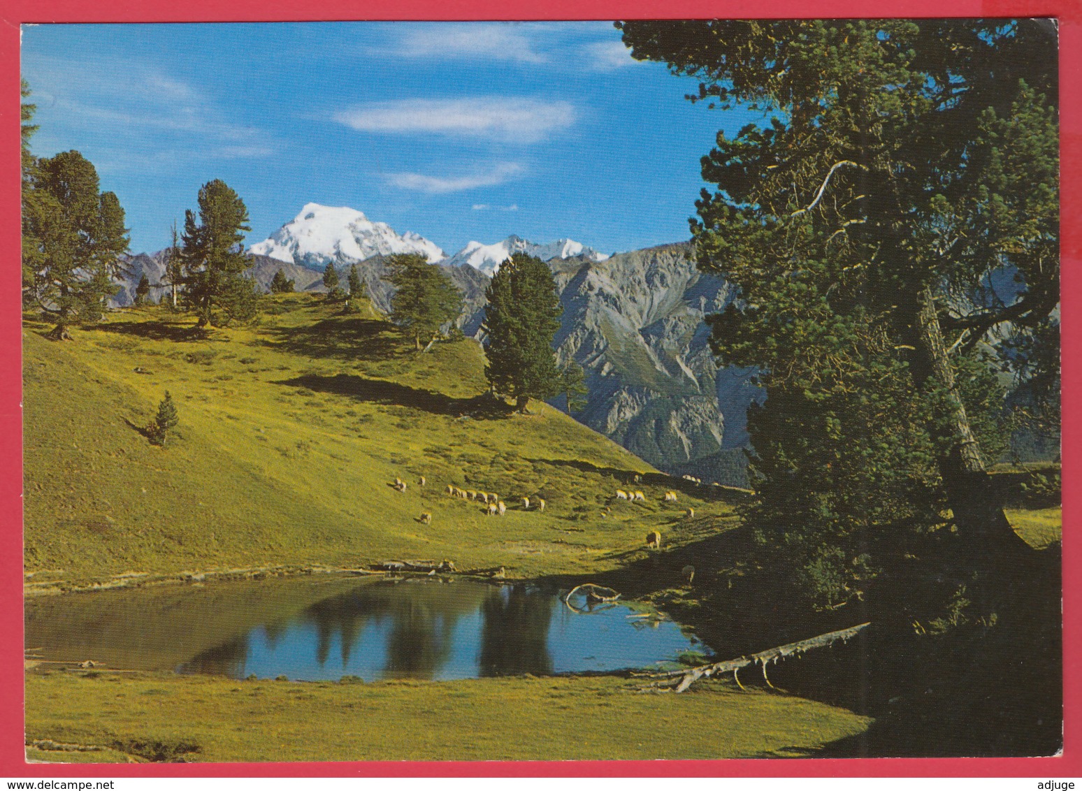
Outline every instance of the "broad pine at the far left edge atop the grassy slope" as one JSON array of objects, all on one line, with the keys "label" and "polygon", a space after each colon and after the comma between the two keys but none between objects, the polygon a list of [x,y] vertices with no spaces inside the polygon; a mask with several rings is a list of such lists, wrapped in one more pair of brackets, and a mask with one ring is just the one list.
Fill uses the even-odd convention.
[{"label": "broad pine at the far left edge atop the grassy slope", "polygon": [[126,273],[128,229],[113,193],[98,190],[97,171],[79,151],[37,160],[23,205],[24,301],[55,321],[53,338],[69,338],[75,321],[96,321]]}]

